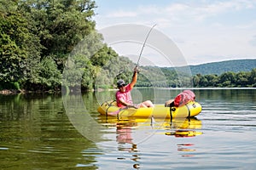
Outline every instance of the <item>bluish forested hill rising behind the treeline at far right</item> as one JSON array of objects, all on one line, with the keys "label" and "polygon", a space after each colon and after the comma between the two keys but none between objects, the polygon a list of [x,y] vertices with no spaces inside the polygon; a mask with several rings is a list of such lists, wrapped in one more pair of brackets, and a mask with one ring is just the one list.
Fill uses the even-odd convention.
[{"label": "bluish forested hill rising behind the treeline at far right", "polygon": [[212,62],[202,65],[189,65],[193,75],[221,75],[224,72],[252,71],[256,68],[256,59],[236,59],[221,62]]}]

